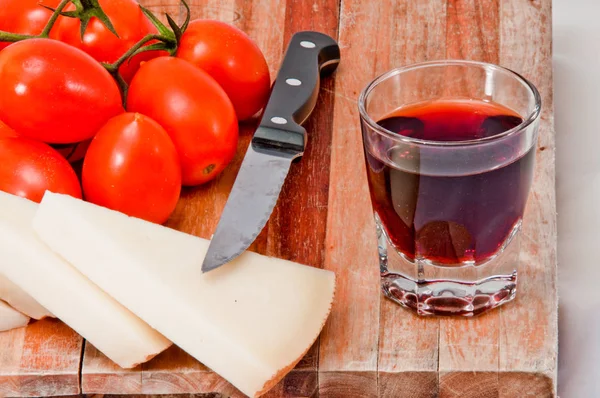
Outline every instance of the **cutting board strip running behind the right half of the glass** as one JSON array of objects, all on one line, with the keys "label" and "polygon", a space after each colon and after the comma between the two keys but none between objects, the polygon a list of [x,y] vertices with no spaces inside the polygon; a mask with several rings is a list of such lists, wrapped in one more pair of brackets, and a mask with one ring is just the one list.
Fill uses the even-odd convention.
[{"label": "cutting board strip running behind the right half of the glass", "polygon": [[[446,58],[500,63],[500,1],[448,0]],[[440,320],[440,397],[498,396],[499,315]]]}]

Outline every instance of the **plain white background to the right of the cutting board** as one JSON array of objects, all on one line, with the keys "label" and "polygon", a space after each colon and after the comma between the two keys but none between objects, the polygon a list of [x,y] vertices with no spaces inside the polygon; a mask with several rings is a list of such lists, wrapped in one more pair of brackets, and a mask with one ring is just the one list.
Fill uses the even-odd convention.
[{"label": "plain white background to the right of the cutting board", "polygon": [[592,398],[600,397],[600,0],[554,0],[553,37],[558,392]]}]

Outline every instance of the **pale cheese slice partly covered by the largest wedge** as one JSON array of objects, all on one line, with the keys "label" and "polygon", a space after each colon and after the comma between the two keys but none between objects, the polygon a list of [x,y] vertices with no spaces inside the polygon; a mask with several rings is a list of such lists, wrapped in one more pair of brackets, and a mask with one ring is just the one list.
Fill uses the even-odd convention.
[{"label": "pale cheese slice partly covered by the largest wedge", "polygon": [[0,192],[0,272],[121,367],[134,367],[169,347],[38,239],[32,228],[37,207]]}]

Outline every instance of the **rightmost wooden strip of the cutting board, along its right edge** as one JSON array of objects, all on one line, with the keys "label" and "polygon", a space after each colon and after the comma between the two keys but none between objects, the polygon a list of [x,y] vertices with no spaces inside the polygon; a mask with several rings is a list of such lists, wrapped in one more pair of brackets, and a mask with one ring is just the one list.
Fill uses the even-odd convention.
[{"label": "rightmost wooden strip of the cutting board, along its right edge", "polygon": [[551,14],[551,2],[546,0],[502,2],[500,61],[538,87],[542,115],[533,190],[523,222],[518,298],[513,306],[500,309],[501,398],[556,394],[558,300]]}]

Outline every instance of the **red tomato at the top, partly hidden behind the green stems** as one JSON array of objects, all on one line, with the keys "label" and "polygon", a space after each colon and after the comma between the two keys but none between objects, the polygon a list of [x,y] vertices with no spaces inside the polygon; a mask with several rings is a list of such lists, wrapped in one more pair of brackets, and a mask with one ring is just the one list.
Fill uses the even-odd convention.
[{"label": "red tomato at the top, partly hidden behind the green stems", "polygon": [[[60,40],[90,54],[99,62],[113,63],[127,50],[148,34],[158,33],[150,20],[142,13],[135,0],[100,0],[100,6],[112,22],[119,37],[115,36],[98,18],[92,18],[81,39],[81,22],[77,18],[61,17],[50,34]],[[69,5],[66,10],[74,10]],[[126,82],[130,82],[140,67],[140,62],[161,55],[151,51],[136,55],[121,65],[119,72]]]}]

